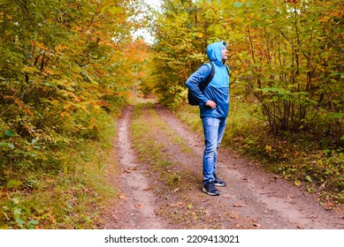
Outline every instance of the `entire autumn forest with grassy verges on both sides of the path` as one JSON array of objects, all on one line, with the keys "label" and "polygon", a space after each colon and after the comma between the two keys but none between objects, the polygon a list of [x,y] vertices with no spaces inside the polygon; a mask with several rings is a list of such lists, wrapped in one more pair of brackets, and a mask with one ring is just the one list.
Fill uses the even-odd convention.
[{"label": "entire autumn forest with grassy verges on both sides of the path", "polygon": [[[115,192],[98,183],[116,116],[154,94],[196,130],[185,82],[213,41],[230,54],[224,145],[324,206],[342,204],[343,10],[340,0],[162,0],[159,11],[0,0],[0,228],[96,228],[87,208]],[[134,37],[140,28],[153,44]]]}]

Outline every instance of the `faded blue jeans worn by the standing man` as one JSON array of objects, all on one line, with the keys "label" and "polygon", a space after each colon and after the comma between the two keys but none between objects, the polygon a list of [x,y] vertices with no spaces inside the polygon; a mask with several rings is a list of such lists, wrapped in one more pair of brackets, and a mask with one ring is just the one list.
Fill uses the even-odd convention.
[{"label": "faded blue jeans worn by the standing man", "polygon": [[226,118],[203,117],[205,148],[203,153],[203,183],[214,181],[218,146],[224,137]]}]

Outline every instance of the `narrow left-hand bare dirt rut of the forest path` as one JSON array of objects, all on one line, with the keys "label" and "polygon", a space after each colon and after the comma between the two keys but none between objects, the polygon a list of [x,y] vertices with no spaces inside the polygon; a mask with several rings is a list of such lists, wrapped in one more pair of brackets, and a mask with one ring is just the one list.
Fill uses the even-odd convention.
[{"label": "narrow left-hand bare dirt rut of the forest path", "polygon": [[149,180],[144,169],[136,162],[130,140],[129,128],[132,108],[127,107],[118,119],[118,140],[116,151],[120,166],[118,206],[115,206],[113,221],[106,228],[169,228],[168,222],[156,213],[155,195],[149,190]]}]

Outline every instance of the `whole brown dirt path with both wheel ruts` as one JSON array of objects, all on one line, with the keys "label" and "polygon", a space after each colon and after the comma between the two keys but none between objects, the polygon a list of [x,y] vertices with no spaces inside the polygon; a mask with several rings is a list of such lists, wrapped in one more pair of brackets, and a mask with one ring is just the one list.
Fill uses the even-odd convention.
[{"label": "whole brown dirt path with both wheel ruts", "polygon": [[[159,176],[147,176],[151,168],[137,160],[130,141],[132,109],[126,109],[118,120],[121,171],[116,181],[121,194],[104,228],[344,228],[343,215],[324,210],[315,195],[224,149],[219,153],[218,176],[227,186],[219,189],[219,197],[206,195],[201,191],[203,137],[187,130],[170,111],[158,106],[154,111],[174,132],[151,128],[150,135],[164,146],[162,152],[173,164],[168,172],[177,170],[181,182],[174,188],[159,185],[159,190],[151,189],[149,184]],[[152,116],[145,110],[141,117]],[[172,141],[176,136],[184,147]]]}]

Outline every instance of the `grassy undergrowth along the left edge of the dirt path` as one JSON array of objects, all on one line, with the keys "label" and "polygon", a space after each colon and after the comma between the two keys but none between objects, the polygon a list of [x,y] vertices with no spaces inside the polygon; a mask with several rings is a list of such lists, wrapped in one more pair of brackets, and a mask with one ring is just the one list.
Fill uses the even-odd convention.
[{"label": "grassy undergrowth along the left edge of the dirt path", "polygon": [[104,176],[115,166],[114,117],[103,110],[73,117],[80,121],[65,123],[69,133],[10,137],[15,145],[0,153],[0,228],[97,228],[116,193]]}]

